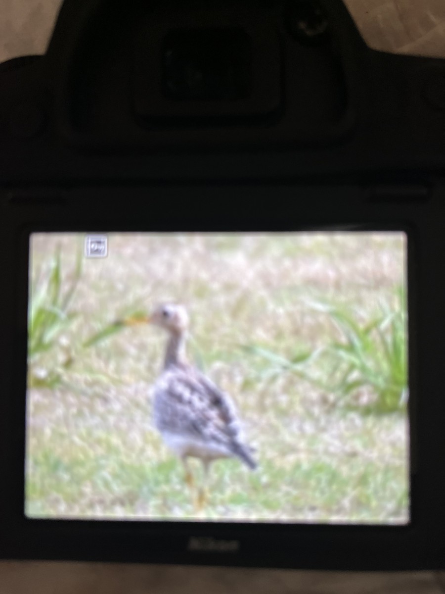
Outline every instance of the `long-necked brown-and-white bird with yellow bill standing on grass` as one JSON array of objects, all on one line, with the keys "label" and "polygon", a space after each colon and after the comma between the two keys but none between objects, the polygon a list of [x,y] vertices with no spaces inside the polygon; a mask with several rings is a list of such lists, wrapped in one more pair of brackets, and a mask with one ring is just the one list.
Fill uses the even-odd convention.
[{"label": "long-necked brown-and-white bird with yellow bill standing on grass", "polygon": [[141,321],[162,328],[168,335],[163,368],[153,386],[154,425],[182,462],[186,484],[192,490],[195,480],[189,458],[201,460],[203,481],[195,505],[202,509],[211,463],[237,458],[254,470],[254,450],[241,439],[239,416],[231,397],[187,362],[189,316],[185,306],[160,304],[151,315],[129,320],[129,324]]}]

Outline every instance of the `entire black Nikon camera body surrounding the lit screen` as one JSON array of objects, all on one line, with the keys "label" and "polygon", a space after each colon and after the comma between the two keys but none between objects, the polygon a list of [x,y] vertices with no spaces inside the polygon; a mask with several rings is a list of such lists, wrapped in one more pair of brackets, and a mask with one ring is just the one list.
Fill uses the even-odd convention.
[{"label": "entire black Nikon camera body surrounding the lit screen", "polygon": [[[445,60],[368,48],[339,0],[66,0],[0,66],[0,147],[1,557],[444,567]],[[411,523],[24,517],[29,233],[302,229],[408,234]]]}]

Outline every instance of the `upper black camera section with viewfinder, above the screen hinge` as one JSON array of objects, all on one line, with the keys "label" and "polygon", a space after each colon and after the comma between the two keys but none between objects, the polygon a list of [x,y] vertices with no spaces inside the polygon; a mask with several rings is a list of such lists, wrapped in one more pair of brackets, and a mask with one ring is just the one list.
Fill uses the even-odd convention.
[{"label": "upper black camera section with viewfinder, above the screen hinge", "polygon": [[317,6],[65,2],[46,55],[2,65],[3,184],[440,172],[444,61]]}]

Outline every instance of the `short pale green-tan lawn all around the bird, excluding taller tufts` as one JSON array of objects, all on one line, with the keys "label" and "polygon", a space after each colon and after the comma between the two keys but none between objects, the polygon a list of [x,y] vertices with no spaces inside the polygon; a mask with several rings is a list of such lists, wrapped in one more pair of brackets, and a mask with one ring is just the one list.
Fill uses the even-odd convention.
[{"label": "short pale green-tan lawn all around the bird, excluding taller tufts", "polygon": [[[77,279],[78,241],[34,236],[33,296],[45,286],[45,299],[58,293],[62,303]],[[66,323],[47,334],[50,348],[31,355],[31,369],[58,375],[55,383],[40,384],[30,376],[28,515],[196,516],[180,463],[151,420],[165,337],[154,328],[116,324],[172,299],[190,312],[190,358],[233,396],[246,440],[258,450],[255,472],[237,460],[214,463],[200,519],[405,522],[405,409],[363,415],[325,385],[341,357],[335,345],[348,346],[332,312],[353,312],[363,330],[379,311],[370,337],[379,352],[380,334],[388,341],[399,324],[394,295],[403,283],[402,248],[403,240],[390,234],[365,234],[360,242],[283,236],[273,244],[267,236],[110,235],[109,258],[82,261],[66,317],[55,318]],[[185,266],[177,266],[179,253]],[[60,279],[58,291],[47,290],[52,274]],[[336,309],[320,311],[308,301]],[[71,364],[63,366],[66,343]],[[346,371],[347,362],[342,365]],[[317,369],[319,383],[310,382]],[[377,393],[371,384],[365,392]]]}]

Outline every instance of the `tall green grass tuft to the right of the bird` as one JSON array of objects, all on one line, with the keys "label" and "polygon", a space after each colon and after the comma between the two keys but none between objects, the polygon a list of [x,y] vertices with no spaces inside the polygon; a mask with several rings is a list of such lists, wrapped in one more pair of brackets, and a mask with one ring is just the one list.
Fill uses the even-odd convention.
[{"label": "tall green grass tuft to the right of the bird", "polygon": [[262,361],[259,377],[274,380],[283,373],[294,374],[335,397],[336,406],[361,413],[405,411],[408,369],[403,289],[399,288],[395,304],[381,301],[379,312],[364,321],[347,308],[319,302],[308,307],[328,317],[338,337],[319,349],[297,350],[291,358],[265,347],[243,346],[244,352]]}]

